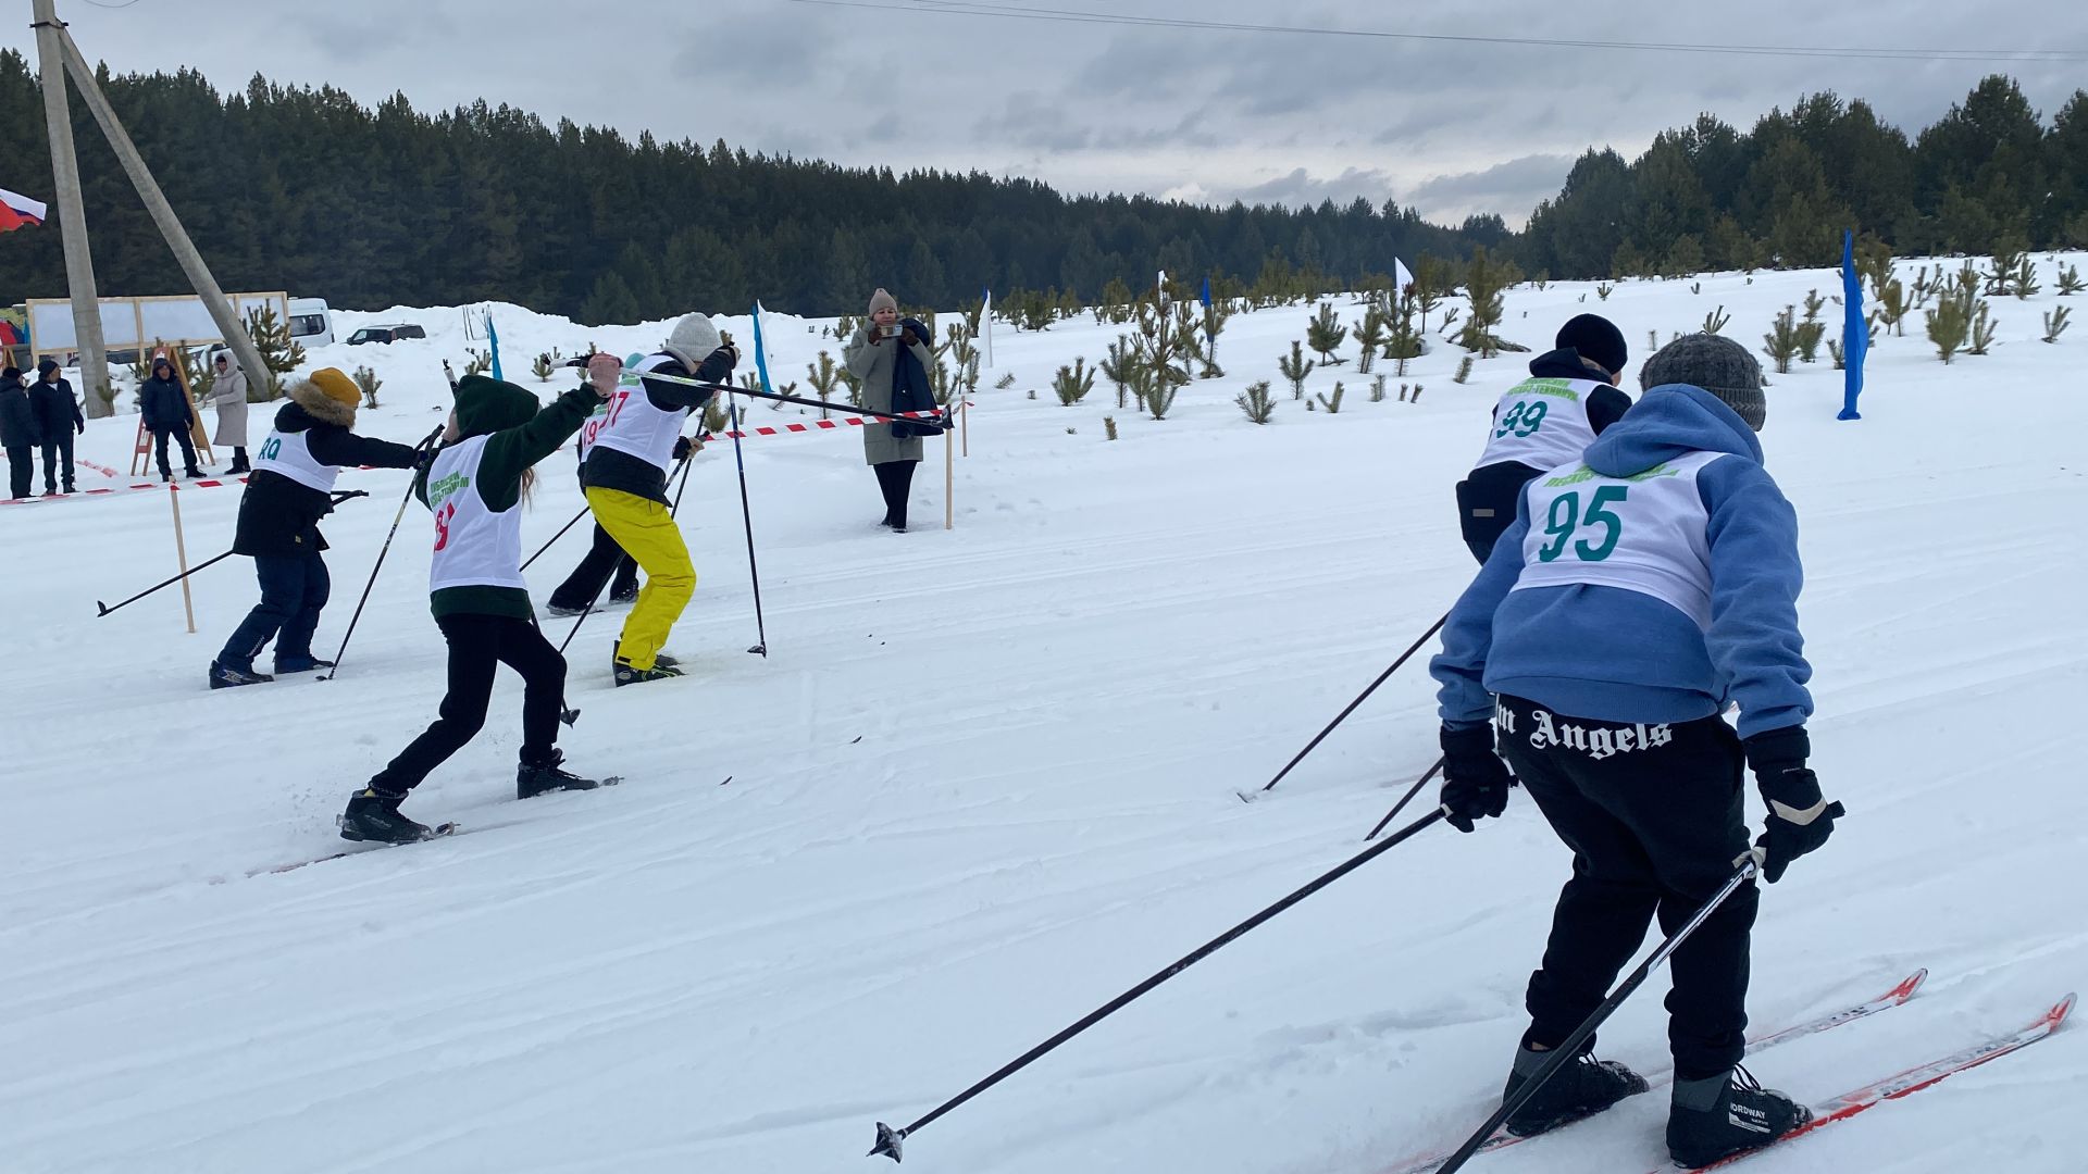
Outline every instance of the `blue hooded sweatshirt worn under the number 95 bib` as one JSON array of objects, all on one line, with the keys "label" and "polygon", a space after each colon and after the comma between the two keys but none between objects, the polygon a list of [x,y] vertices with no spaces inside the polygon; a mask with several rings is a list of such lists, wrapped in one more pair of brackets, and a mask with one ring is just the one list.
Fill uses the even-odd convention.
[{"label": "blue hooded sweatshirt worn under the number 95 bib", "polygon": [[1698,386],[1656,386],[1583,460],[1604,476],[1633,476],[1695,451],[1731,453],[1698,474],[1710,518],[1710,629],[1622,587],[1512,591],[1531,529],[1524,491],[1428,664],[1445,725],[1485,725],[1493,694],[1622,723],[1695,721],[1737,700],[1741,737],[1804,725],[1812,668],[1798,635],[1798,514],[1739,414]]}]

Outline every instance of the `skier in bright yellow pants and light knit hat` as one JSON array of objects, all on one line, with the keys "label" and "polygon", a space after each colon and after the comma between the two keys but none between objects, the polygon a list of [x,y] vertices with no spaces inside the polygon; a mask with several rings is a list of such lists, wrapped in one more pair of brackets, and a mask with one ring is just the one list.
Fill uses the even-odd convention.
[{"label": "skier in bright yellow pants and light knit hat", "polygon": [[633,368],[639,386],[618,386],[610,397],[608,420],[580,464],[580,485],[595,520],[645,570],[645,587],[616,639],[612,668],[618,687],[681,677],[672,658],[660,658],[660,648],[695,593],[689,543],[666,501],[666,470],[681,443],[683,420],[710,401],[712,393],[645,376],[725,382],[733,378],[735,366],[739,349],[718,334],[710,318],[683,318],[660,351]]}]

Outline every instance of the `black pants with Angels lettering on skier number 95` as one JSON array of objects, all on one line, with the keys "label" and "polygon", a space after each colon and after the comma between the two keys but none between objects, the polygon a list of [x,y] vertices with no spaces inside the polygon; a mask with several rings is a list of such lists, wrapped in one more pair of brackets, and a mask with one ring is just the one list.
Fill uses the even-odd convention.
[{"label": "black pants with Angels lettering on skier number 95", "polygon": [[[1748,850],[1746,760],[1716,717],[1616,725],[1503,696],[1495,725],[1501,756],[1574,852],[1526,999],[1524,1042],[1556,1047],[1595,1011],[1656,913],[1672,934],[1731,879]],[[1756,886],[1743,886],[1668,959],[1668,1047],[1681,1080],[1718,1076],[1743,1055],[1758,905]]]}]

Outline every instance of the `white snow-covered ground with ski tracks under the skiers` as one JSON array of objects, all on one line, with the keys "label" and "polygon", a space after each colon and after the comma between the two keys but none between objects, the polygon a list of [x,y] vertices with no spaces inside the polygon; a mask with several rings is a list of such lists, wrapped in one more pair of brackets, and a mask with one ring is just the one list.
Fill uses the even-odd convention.
[{"label": "white snow-covered ground with ski tracks under the skiers", "polygon": [[[1729,274],[1608,301],[1522,286],[1503,334],[1545,349],[1597,309],[1639,359],[1647,330],[1725,305],[1727,332],[1756,343],[1808,288],[1837,282]],[[1850,817],[1766,892],[1752,1011],[1773,1028],[1933,971],[1904,1009],[1756,1057],[1802,1099],[2015,1028],[2088,980],[2088,336],[2042,345],[2053,305],[1998,299],[1994,353],[1948,368],[1919,322],[1881,341],[1860,424],[1833,420],[1825,353],[1771,389],[1764,445],[1810,570],[1814,765]],[[466,836],[288,873],[269,869],[340,848],[334,813],[441,698],[426,514],[407,512],[338,681],[211,694],[205,664],[255,600],[244,560],[196,577],[196,635],[177,591],[96,618],[92,600],[173,572],[165,493],[0,510],[0,1170],[881,1168],[862,1155],[873,1120],[917,1118],[1338,863],[1434,760],[1416,664],[1267,802],[1234,798],[1464,587],[1451,483],[1522,363],[1482,361],[1460,386],[1460,351],[1439,345],[1405,380],[1420,403],[1370,403],[1353,366],[1315,372],[1311,391],[1343,378],[1347,399],[1307,414],[1276,376],[1307,313],[1234,318],[1230,376],[1163,422],[1117,412],[1107,384],[1052,399],[1050,372],[1094,363],[1115,328],[1002,326],[986,382],[1017,382],[977,397],[948,533],[940,451],[915,531],[892,535],[854,435],[750,441],[766,660],[745,652],[733,455],[708,449],[683,508],[702,585],[670,643],[691,677],[612,696],[620,612],[572,652],[585,717],[564,748],[628,781],[512,802],[503,677],[480,739],[407,804]],[[340,318],[342,336],[428,326],[311,353],[384,378],[361,430],[424,435],[447,403],[438,361],[464,359],[459,313]],[[509,378],[545,397],[557,384],[526,374],[539,349],[643,351],[666,332],[509,307],[497,324]],[[779,380],[821,347],[839,357],[816,324],[766,330]],[[1282,397],[1265,428],[1232,405],[1255,378]],[[123,470],[132,426],[90,426],[81,453]],[[568,460],[543,474],[530,545],[580,506]],[[405,480],[342,487],[372,497],[326,524],[322,654]],[[236,506],[232,489],[182,495],[192,560],[230,543]],[[539,600],[580,535],[530,570]],[[1522,796],[1480,833],[1424,833],[935,1122],[906,1170],[1372,1174],[1455,1143],[1499,1090],[1564,871]],[[1610,1024],[1604,1055],[1664,1067],[1662,988]],[[1750,1170],[2082,1170],[2082,1038]],[[1650,1170],[1662,1113],[1643,1097],[1480,1164]]]}]

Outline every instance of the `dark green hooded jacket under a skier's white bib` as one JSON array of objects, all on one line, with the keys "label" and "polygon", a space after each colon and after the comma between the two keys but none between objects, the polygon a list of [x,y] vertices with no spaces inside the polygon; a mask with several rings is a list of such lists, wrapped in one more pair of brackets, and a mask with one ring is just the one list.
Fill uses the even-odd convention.
[{"label": "dark green hooded jacket under a skier's white bib", "polygon": [[[580,384],[539,412],[537,397],[512,382],[487,376],[457,380],[457,441],[491,437],[478,460],[478,495],[487,501],[487,510],[495,514],[514,510],[522,501],[522,474],[578,432],[597,403],[601,397],[595,389]],[[428,503],[426,468],[413,478],[413,495],[422,506]],[[430,597],[430,608],[434,618],[537,616],[528,591],[516,587],[443,587]]]}]

